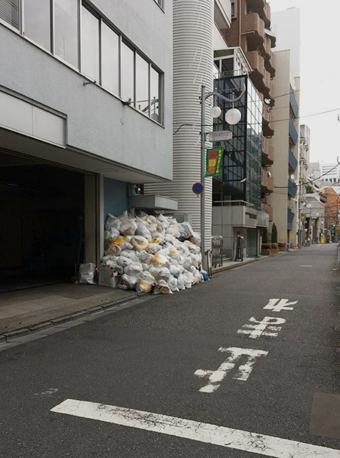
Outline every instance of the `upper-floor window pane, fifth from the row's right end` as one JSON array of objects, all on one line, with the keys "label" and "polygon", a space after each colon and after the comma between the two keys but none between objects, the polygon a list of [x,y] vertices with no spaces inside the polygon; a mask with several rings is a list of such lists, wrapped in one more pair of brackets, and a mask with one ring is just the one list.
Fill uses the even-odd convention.
[{"label": "upper-floor window pane, fifth from the row's right end", "polygon": [[81,71],[99,82],[99,19],[82,6]]}]

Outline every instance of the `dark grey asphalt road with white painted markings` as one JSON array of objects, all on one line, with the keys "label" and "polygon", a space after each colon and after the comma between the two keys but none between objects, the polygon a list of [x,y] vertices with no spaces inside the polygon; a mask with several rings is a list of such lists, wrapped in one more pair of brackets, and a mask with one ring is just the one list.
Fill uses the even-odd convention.
[{"label": "dark grey asphalt road with white painted markings", "polygon": [[[51,411],[67,399],[340,450],[336,254],[337,245],[327,244],[254,262],[0,352],[0,457],[271,456],[265,446],[236,450]],[[264,310],[269,299],[297,303],[288,306],[293,310]],[[276,319],[276,328],[264,333],[277,335],[238,333],[255,330],[252,317],[262,328],[264,317]],[[227,358],[230,363],[227,349],[234,348],[267,355],[253,360],[250,373],[247,355],[234,368],[231,361],[219,382],[210,380],[212,393],[199,391],[209,374]],[[212,372],[199,377],[198,369]]]}]

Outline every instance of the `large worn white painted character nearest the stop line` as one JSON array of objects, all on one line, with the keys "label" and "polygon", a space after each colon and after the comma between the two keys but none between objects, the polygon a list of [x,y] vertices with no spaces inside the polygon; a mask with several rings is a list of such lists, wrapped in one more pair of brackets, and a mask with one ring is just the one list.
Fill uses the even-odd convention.
[{"label": "large worn white painted character nearest the stop line", "polygon": [[248,377],[253,370],[256,358],[259,356],[267,356],[268,354],[268,352],[264,352],[263,350],[252,350],[249,348],[237,347],[220,347],[218,352],[228,352],[231,353],[231,355],[220,365],[220,367],[218,367],[216,371],[197,369],[194,373],[195,376],[200,378],[208,377],[209,383],[199,390],[202,393],[214,393],[214,391],[220,387],[220,382],[224,380],[227,373],[231,371],[231,369],[234,369],[236,362],[241,358],[241,356],[247,356],[247,361],[238,367],[238,372],[233,378],[242,381],[248,380]]}]

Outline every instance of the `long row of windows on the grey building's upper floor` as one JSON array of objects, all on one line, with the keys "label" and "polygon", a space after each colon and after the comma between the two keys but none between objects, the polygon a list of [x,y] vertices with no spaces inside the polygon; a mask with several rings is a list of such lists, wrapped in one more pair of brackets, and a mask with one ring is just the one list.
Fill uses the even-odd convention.
[{"label": "long row of windows on the grey building's upper floor", "polygon": [[0,19],[162,122],[161,73],[80,0],[0,0]]}]

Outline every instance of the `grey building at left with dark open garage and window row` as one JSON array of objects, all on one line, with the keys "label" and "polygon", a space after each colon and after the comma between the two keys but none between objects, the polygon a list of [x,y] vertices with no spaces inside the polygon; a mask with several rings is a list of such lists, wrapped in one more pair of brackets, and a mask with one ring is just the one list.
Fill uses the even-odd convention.
[{"label": "grey building at left with dark open garage and window row", "polygon": [[69,279],[172,179],[172,2],[0,0],[0,43],[0,276]]}]

